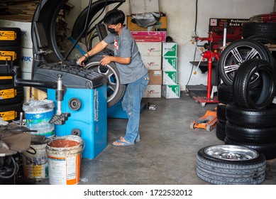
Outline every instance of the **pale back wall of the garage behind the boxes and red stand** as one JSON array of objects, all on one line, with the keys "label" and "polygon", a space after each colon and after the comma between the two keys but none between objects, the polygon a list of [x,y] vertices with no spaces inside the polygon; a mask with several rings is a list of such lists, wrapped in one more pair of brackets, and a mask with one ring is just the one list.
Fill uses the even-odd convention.
[{"label": "pale back wall of the garage behind the boxes and red stand", "polygon": [[[87,6],[89,0],[70,0],[76,5],[76,10]],[[144,1],[144,0],[136,0]],[[198,0],[197,35],[208,36],[209,18],[250,18],[256,14],[270,13],[274,10],[275,0]],[[129,0],[121,7],[125,14],[130,14]],[[189,61],[194,58],[194,45],[191,43],[194,36],[194,24],[196,18],[196,0],[159,0],[160,11],[167,14],[167,36],[171,36],[178,43],[178,80],[181,90],[189,80],[192,65]],[[74,11],[77,13],[77,11]],[[72,17],[74,18],[74,17]],[[200,44],[200,43],[199,43]],[[196,60],[200,54],[197,51]],[[206,85],[206,74],[200,71],[197,75],[192,73],[189,85]]]}]

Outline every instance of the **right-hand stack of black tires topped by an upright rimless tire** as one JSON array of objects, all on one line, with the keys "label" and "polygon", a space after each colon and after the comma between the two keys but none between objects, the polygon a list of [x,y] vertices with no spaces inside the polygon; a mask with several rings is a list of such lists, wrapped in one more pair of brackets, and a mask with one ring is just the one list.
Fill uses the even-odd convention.
[{"label": "right-hand stack of black tires topped by an upright rimless tire", "polygon": [[[252,82],[258,74],[258,80]],[[258,95],[250,97],[251,87]],[[233,103],[226,106],[225,144],[246,146],[276,158],[276,92],[275,68],[266,60],[246,60],[233,79]]]}]

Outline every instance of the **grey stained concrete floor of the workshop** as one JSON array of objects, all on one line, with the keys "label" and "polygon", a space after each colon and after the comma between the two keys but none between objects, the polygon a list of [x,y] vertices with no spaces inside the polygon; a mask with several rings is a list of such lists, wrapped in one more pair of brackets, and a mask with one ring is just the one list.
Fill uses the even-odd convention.
[{"label": "grey stained concrete floor of the workshop", "polygon": [[[123,136],[126,119],[108,120],[108,146],[93,160],[82,159],[80,185],[204,185],[197,177],[197,151],[223,144],[216,129],[190,129],[189,124],[216,104],[200,107],[188,95],[180,99],[151,98],[155,111],[140,115],[140,143],[116,147],[111,143]],[[48,184],[48,181],[36,182]],[[276,184],[276,159],[267,161],[264,185]]]}]

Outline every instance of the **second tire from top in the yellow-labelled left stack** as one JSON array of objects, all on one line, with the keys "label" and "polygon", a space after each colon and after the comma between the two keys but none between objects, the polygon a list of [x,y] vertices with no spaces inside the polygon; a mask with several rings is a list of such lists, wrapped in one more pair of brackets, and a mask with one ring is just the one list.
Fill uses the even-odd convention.
[{"label": "second tire from top in the yellow-labelled left stack", "polygon": [[19,65],[19,60],[21,58],[21,48],[18,46],[0,46],[0,64],[11,63],[11,57],[13,58],[13,65]]}]

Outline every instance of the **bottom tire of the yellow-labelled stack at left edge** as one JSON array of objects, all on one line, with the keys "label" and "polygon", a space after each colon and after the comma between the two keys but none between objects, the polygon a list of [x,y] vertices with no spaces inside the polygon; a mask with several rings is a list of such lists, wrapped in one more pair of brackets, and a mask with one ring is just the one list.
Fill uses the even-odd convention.
[{"label": "bottom tire of the yellow-labelled stack at left edge", "polygon": [[20,117],[20,112],[23,112],[22,107],[23,102],[0,106],[0,118],[6,122],[17,120]]}]

